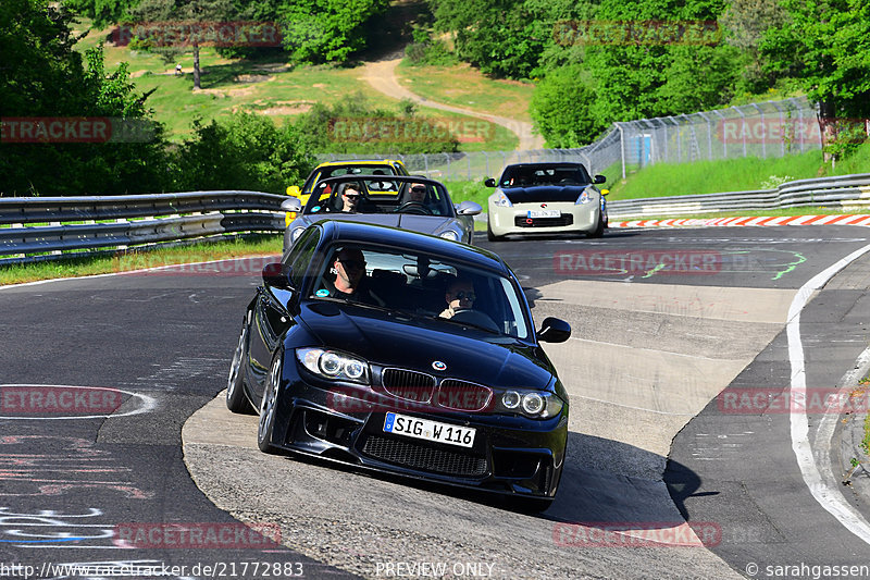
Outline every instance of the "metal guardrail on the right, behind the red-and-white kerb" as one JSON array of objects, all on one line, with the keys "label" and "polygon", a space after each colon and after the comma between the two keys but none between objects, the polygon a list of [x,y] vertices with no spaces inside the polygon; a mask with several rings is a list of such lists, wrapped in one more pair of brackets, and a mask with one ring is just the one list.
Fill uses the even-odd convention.
[{"label": "metal guardrail on the right, behind the red-and-white kerb", "polygon": [[609,218],[691,215],[741,210],[797,207],[849,208],[870,206],[870,173],[798,180],[775,189],[609,201]]}]

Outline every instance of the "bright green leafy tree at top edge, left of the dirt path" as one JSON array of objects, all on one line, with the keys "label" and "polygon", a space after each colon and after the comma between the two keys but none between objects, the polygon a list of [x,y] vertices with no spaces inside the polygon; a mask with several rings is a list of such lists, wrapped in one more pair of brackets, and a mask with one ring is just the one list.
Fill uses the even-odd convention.
[{"label": "bright green leafy tree at top edge, left of the dirt path", "polygon": [[345,62],[365,48],[365,24],[388,0],[284,0],[278,8],[285,48],[297,61]]}]

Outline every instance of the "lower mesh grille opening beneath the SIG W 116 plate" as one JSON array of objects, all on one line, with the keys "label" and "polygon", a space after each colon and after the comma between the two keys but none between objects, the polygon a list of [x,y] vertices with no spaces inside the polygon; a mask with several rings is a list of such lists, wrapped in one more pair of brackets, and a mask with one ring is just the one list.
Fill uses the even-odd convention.
[{"label": "lower mesh grille opening beneath the SIG W 116 plate", "polygon": [[445,476],[480,478],[487,472],[485,457],[377,435],[365,440],[362,453],[388,464]]}]

